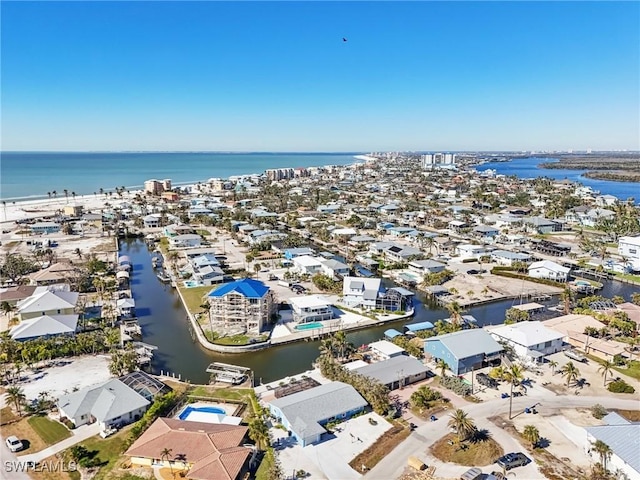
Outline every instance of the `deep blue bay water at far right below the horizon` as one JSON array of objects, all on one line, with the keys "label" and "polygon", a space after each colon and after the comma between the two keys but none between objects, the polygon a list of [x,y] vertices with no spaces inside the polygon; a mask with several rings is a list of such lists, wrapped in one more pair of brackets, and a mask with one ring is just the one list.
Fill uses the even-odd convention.
[{"label": "deep blue bay water at far right below the horizon", "polygon": [[553,158],[518,158],[510,162],[489,162],[477,167],[479,172],[491,169],[502,175],[515,175],[518,178],[549,177],[555,180],[572,180],[580,182],[584,186],[598,190],[602,195],[614,195],[620,200],[633,197],[638,203],[640,201],[640,183],[638,182],[613,182],[611,180],[594,180],[583,177],[587,170],[555,170],[550,168],[539,168],[538,165],[544,162],[553,162]]}]

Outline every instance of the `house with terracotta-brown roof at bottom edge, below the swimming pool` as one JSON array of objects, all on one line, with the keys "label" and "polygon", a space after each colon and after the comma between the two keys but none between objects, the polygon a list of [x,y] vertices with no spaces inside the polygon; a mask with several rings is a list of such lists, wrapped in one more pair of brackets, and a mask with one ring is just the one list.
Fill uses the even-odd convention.
[{"label": "house with terracotta-brown roof at bottom edge, below the swimming pool", "polygon": [[[252,450],[244,445],[247,427],[158,418],[129,447],[131,464],[169,467],[193,480],[246,478]],[[162,456],[169,449],[170,456]]]}]

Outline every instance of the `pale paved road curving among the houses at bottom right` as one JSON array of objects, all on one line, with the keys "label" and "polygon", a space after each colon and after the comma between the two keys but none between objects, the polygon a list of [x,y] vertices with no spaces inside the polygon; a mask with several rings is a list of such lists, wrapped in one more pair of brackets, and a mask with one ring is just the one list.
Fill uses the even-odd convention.
[{"label": "pale paved road curving among the houses at bottom right", "polygon": [[[640,408],[640,401],[637,398],[610,398],[610,397],[589,397],[589,396],[555,396],[546,389],[532,389],[525,397],[517,397],[513,401],[513,411],[522,412],[524,408],[539,403],[536,408],[542,414],[550,414],[564,408],[584,408],[591,407],[599,403],[606,408],[619,408],[637,410]],[[509,412],[508,400],[496,399],[478,404],[471,404],[464,407],[464,410],[473,418],[478,428],[489,430],[493,438],[500,443],[506,452],[524,450],[518,441],[508,435],[505,431],[497,428],[489,422],[487,418],[507,414]],[[392,453],[387,455],[372,470],[363,477],[366,480],[389,480],[400,477],[407,465],[407,458],[415,455],[420,459],[426,459],[427,446],[448,433],[447,417],[443,416],[435,422],[428,422],[418,428]],[[465,467],[442,462],[429,462],[436,466],[436,475],[456,478],[464,472]],[[489,467],[487,467],[489,468]],[[519,478],[543,479],[545,478],[537,469],[535,462],[531,462],[526,467],[518,468]]]}]

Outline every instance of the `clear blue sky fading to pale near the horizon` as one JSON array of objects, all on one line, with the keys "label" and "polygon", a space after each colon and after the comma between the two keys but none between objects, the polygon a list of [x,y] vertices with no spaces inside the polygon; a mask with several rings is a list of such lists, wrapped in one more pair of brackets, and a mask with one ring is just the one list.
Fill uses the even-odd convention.
[{"label": "clear blue sky fading to pale near the horizon", "polygon": [[640,149],[638,2],[1,8],[3,150]]}]

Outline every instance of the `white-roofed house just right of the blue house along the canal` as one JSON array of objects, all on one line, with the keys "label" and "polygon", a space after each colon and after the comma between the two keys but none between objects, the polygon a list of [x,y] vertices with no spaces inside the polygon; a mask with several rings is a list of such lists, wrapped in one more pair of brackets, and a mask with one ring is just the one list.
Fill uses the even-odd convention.
[{"label": "white-roofed house just right of the blue house along the canal", "polygon": [[564,346],[564,333],[538,321],[498,325],[487,327],[487,330],[498,342],[511,346],[516,355],[527,361],[540,361]]}]

